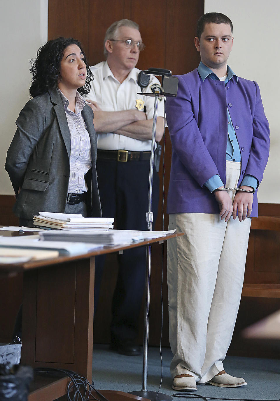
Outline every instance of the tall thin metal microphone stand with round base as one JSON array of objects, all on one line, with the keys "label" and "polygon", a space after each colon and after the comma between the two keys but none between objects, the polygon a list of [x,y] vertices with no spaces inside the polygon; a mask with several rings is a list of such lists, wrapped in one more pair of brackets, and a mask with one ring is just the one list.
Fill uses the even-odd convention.
[{"label": "tall thin metal microphone stand with round base", "polygon": [[[164,70],[166,71],[166,70]],[[144,73],[151,74],[152,71],[144,71]],[[153,75],[163,75],[156,73]],[[171,75],[164,74],[164,75]],[[144,96],[154,96],[154,116],[153,116],[153,128],[152,128],[152,147],[151,147],[151,158],[150,158],[150,174],[149,174],[149,194],[148,194],[148,212],[146,213],[146,221],[148,231],[152,231],[152,180],[153,180],[153,168],[154,168],[154,150],[156,142],[156,116],[158,112],[158,97],[164,96],[162,93],[138,93]],[[147,389],[147,363],[148,363],[148,342],[149,342],[149,318],[150,318],[150,278],[151,278],[151,245],[147,246],[146,254],[146,295],[145,295],[145,330],[143,339],[143,371],[142,371],[142,390],[130,391],[130,394],[137,395],[138,397],[148,398],[151,401],[171,401],[172,397],[166,394],[158,393],[157,391],[148,391]]]}]

